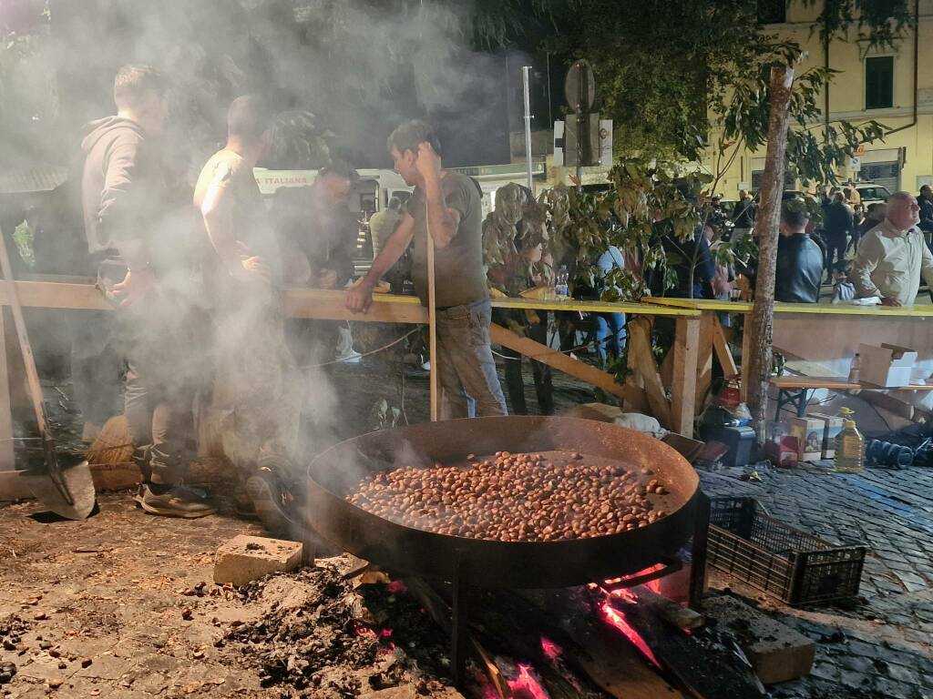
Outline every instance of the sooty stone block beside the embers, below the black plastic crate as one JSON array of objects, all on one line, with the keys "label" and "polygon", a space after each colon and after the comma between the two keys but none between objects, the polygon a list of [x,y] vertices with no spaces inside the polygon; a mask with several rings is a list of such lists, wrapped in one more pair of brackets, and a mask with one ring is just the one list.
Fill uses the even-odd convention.
[{"label": "sooty stone block beside the embers, below the black plastic crate", "polygon": [[703,613],[736,633],[762,683],[776,684],[810,674],[816,644],[799,631],[731,596],[707,599]]}]

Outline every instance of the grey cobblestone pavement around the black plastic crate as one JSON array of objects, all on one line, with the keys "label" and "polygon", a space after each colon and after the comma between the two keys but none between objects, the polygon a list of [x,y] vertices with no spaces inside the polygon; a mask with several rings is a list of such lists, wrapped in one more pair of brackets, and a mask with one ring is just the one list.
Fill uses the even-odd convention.
[{"label": "grey cobblestone pavement around the black plastic crate", "polygon": [[762,468],[702,473],[711,497],[756,498],[787,524],[870,553],[855,605],[793,610],[714,574],[714,586],[759,607],[817,642],[813,674],[773,688],[774,697],[933,699],[933,470],[830,473]]}]

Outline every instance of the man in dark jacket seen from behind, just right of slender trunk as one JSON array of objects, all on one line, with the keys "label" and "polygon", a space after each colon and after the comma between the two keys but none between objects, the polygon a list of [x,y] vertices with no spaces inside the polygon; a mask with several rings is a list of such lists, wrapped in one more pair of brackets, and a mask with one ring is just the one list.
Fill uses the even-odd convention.
[{"label": "man in dark jacket seen from behind, just right of slender trunk", "polygon": [[803,202],[785,201],[781,206],[781,238],[777,244],[774,300],[786,303],[819,301],[823,279],[823,254],[806,233],[809,219]]}]

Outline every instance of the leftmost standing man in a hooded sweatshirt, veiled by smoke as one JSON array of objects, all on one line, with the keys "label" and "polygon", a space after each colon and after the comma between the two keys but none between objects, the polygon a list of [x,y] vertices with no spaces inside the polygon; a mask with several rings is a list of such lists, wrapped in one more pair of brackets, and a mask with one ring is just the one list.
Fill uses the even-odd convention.
[{"label": "leftmost standing man in a hooded sweatshirt, veiled by smoke", "polygon": [[98,279],[118,305],[118,342],[128,367],[124,414],[143,475],[135,500],[149,514],[201,517],[214,507],[181,486],[194,383],[183,298],[190,260],[180,242],[188,236],[190,209],[183,200],[174,208],[156,146],[166,91],[149,66],[120,68],[117,116],[92,122],[82,144],[81,200]]}]

